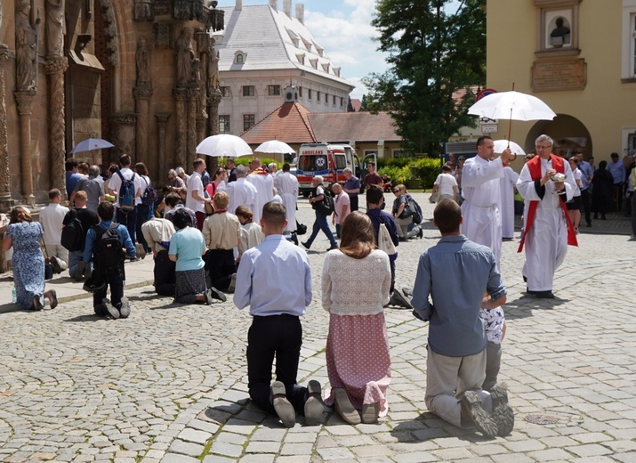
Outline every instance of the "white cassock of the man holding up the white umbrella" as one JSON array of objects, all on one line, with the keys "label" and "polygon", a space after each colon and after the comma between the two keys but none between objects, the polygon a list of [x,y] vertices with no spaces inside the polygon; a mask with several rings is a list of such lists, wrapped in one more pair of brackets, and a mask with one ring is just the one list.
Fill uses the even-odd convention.
[{"label": "white cassock of the man holding up the white umbrella", "polygon": [[498,267],[502,258],[502,221],[499,213],[499,179],[502,177],[501,158],[487,161],[475,156],[463,163],[464,201],[460,231],[469,240],[491,248]]}]

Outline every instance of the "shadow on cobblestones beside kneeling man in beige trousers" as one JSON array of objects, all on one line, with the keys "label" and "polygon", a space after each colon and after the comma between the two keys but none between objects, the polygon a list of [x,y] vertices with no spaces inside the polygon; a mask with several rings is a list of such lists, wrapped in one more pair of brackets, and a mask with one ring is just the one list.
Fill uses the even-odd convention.
[{"label": "shadow on cobblestones beside kneeling man in beige trousers", "polygon": [[493,440],[491,437],[479,434],[475,429],[463,429],[453,426],[433,415],[430,411],[424,411],[415,419],[400,422],[398,426],[395,426],[390,431],[390,435],[400,443],[413,444],[447,437],[455,437],[471,443],[483,443]]}]

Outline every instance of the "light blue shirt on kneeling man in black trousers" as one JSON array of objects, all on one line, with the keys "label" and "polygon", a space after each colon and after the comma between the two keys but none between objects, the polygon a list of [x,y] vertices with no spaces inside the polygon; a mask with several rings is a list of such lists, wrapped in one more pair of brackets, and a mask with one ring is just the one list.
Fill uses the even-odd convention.
[{"label": "light blue shirt on kneeling man in black trousers", "polygon": [[310,260],[304,250],[283,235],[270,235],[243,253],[234,289],[239,309],[249,305],[252,315],[300,316],[310,303]]}]

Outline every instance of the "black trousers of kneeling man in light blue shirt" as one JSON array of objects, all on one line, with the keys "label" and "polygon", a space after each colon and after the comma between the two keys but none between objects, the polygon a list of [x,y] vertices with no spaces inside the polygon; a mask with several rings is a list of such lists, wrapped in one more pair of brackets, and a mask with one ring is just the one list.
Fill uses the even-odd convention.
[{"label": "black trousers of kneeling man in light blue shirt", "polygon": [[307,388],[296,384],[301,345],[302,326],[297,316],[254,317],[247,333],[247,378],[250,398],[262,410],[276,414],[270,397],[271,367],[276,357],[276,380],[285,385],[294,409],[304,413]]}]

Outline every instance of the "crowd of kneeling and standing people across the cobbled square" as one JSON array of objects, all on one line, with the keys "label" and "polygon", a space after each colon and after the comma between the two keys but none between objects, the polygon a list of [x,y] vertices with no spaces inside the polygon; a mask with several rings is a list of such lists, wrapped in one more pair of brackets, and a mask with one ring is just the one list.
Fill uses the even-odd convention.
[{"label": "crowd of kneeling and standing people across the cobbled square", "polygon": [[[577,245],[580,208],[586,221],[585,205],[596,210],[594,193],[584,193],[585,187],[602,190],[599,179],[611,174],[603,174],[605,161],[591,173],[579,153],[567,161],[554,155],[547,135],[536,139],[536,155],[527,156],[519,175],[509,167],[511,150],[495,158],[494,142],[487,136],[479,137],[476,148],[474,158],[459,158],[456,165],[452,158],[435,182],[439,200],[433,224],[441,240],[420,256],[415,282],[407,288],[396,285],[397,248],[400,241],[422,238],[423,231],[416,223],[421,211],[406,187],[392,186],[389,212],[373,164],[364,181],[345,169],[346,182],[334,183],[331,193],[321,176],[314,177],[309,202],[315,222],[302,245],[309,250],[320,231],[330,244],[320,279],[320,300],[329,313],[331,390],[324,401],[318,381],[297,384],[300,318],[313,295],[308,252],[297,239],[302,233],[295,216],[298,183],[287,164],[278,171],[276,165],[262,166],[258,158],[249,166],[229,159],[210,175],[205,159],[197,158],[190,175],[171,169],[161,197],[149,203],[154,190],[143,164],[131,169],[124,155],[103,180],[95,167],[78,174],[71,159],[67,193],[74,207],[61,206],[60,191],[52,189],[40,223],[25,207],[14,207],[4,226],[4,249],[13,248],[18,304],[35,310],[57,305],[55,291],[44,290],[46,261],[55,272],[68,269],[85,282],[97,315],[127,318],[125,260],[151,253],[157,294],[173,296],[179,304],[212,305],[233,293],[238,309],[249,307],[249,394],[288,427],[294,426],[296,413],[304,415],[307,425],[317,425],[323,403],[353,425],[374,423],[387,413],[391,365],[384,309],[406,308],[429,322],[428,409],[455,426],[508,435],[514,413],[506,387],[498,382],[507,294],[500,262],[502,240],[513,231],[505,216],[513,207],[502,197],[516,190],[525,202],[519,252],[525,248],[521,272],[527,294],[552,298],[554,272],[568,245]],[[631,177],[635,173],[632,168]],[[366,213],[358,210],[363,182]],[[603,182],[609,184],[609,177]],[[76,240],[69,245],[67,231],[73,228],[81,232],[81,246]],[[449,278],[456,291],[447,290]]]}]

